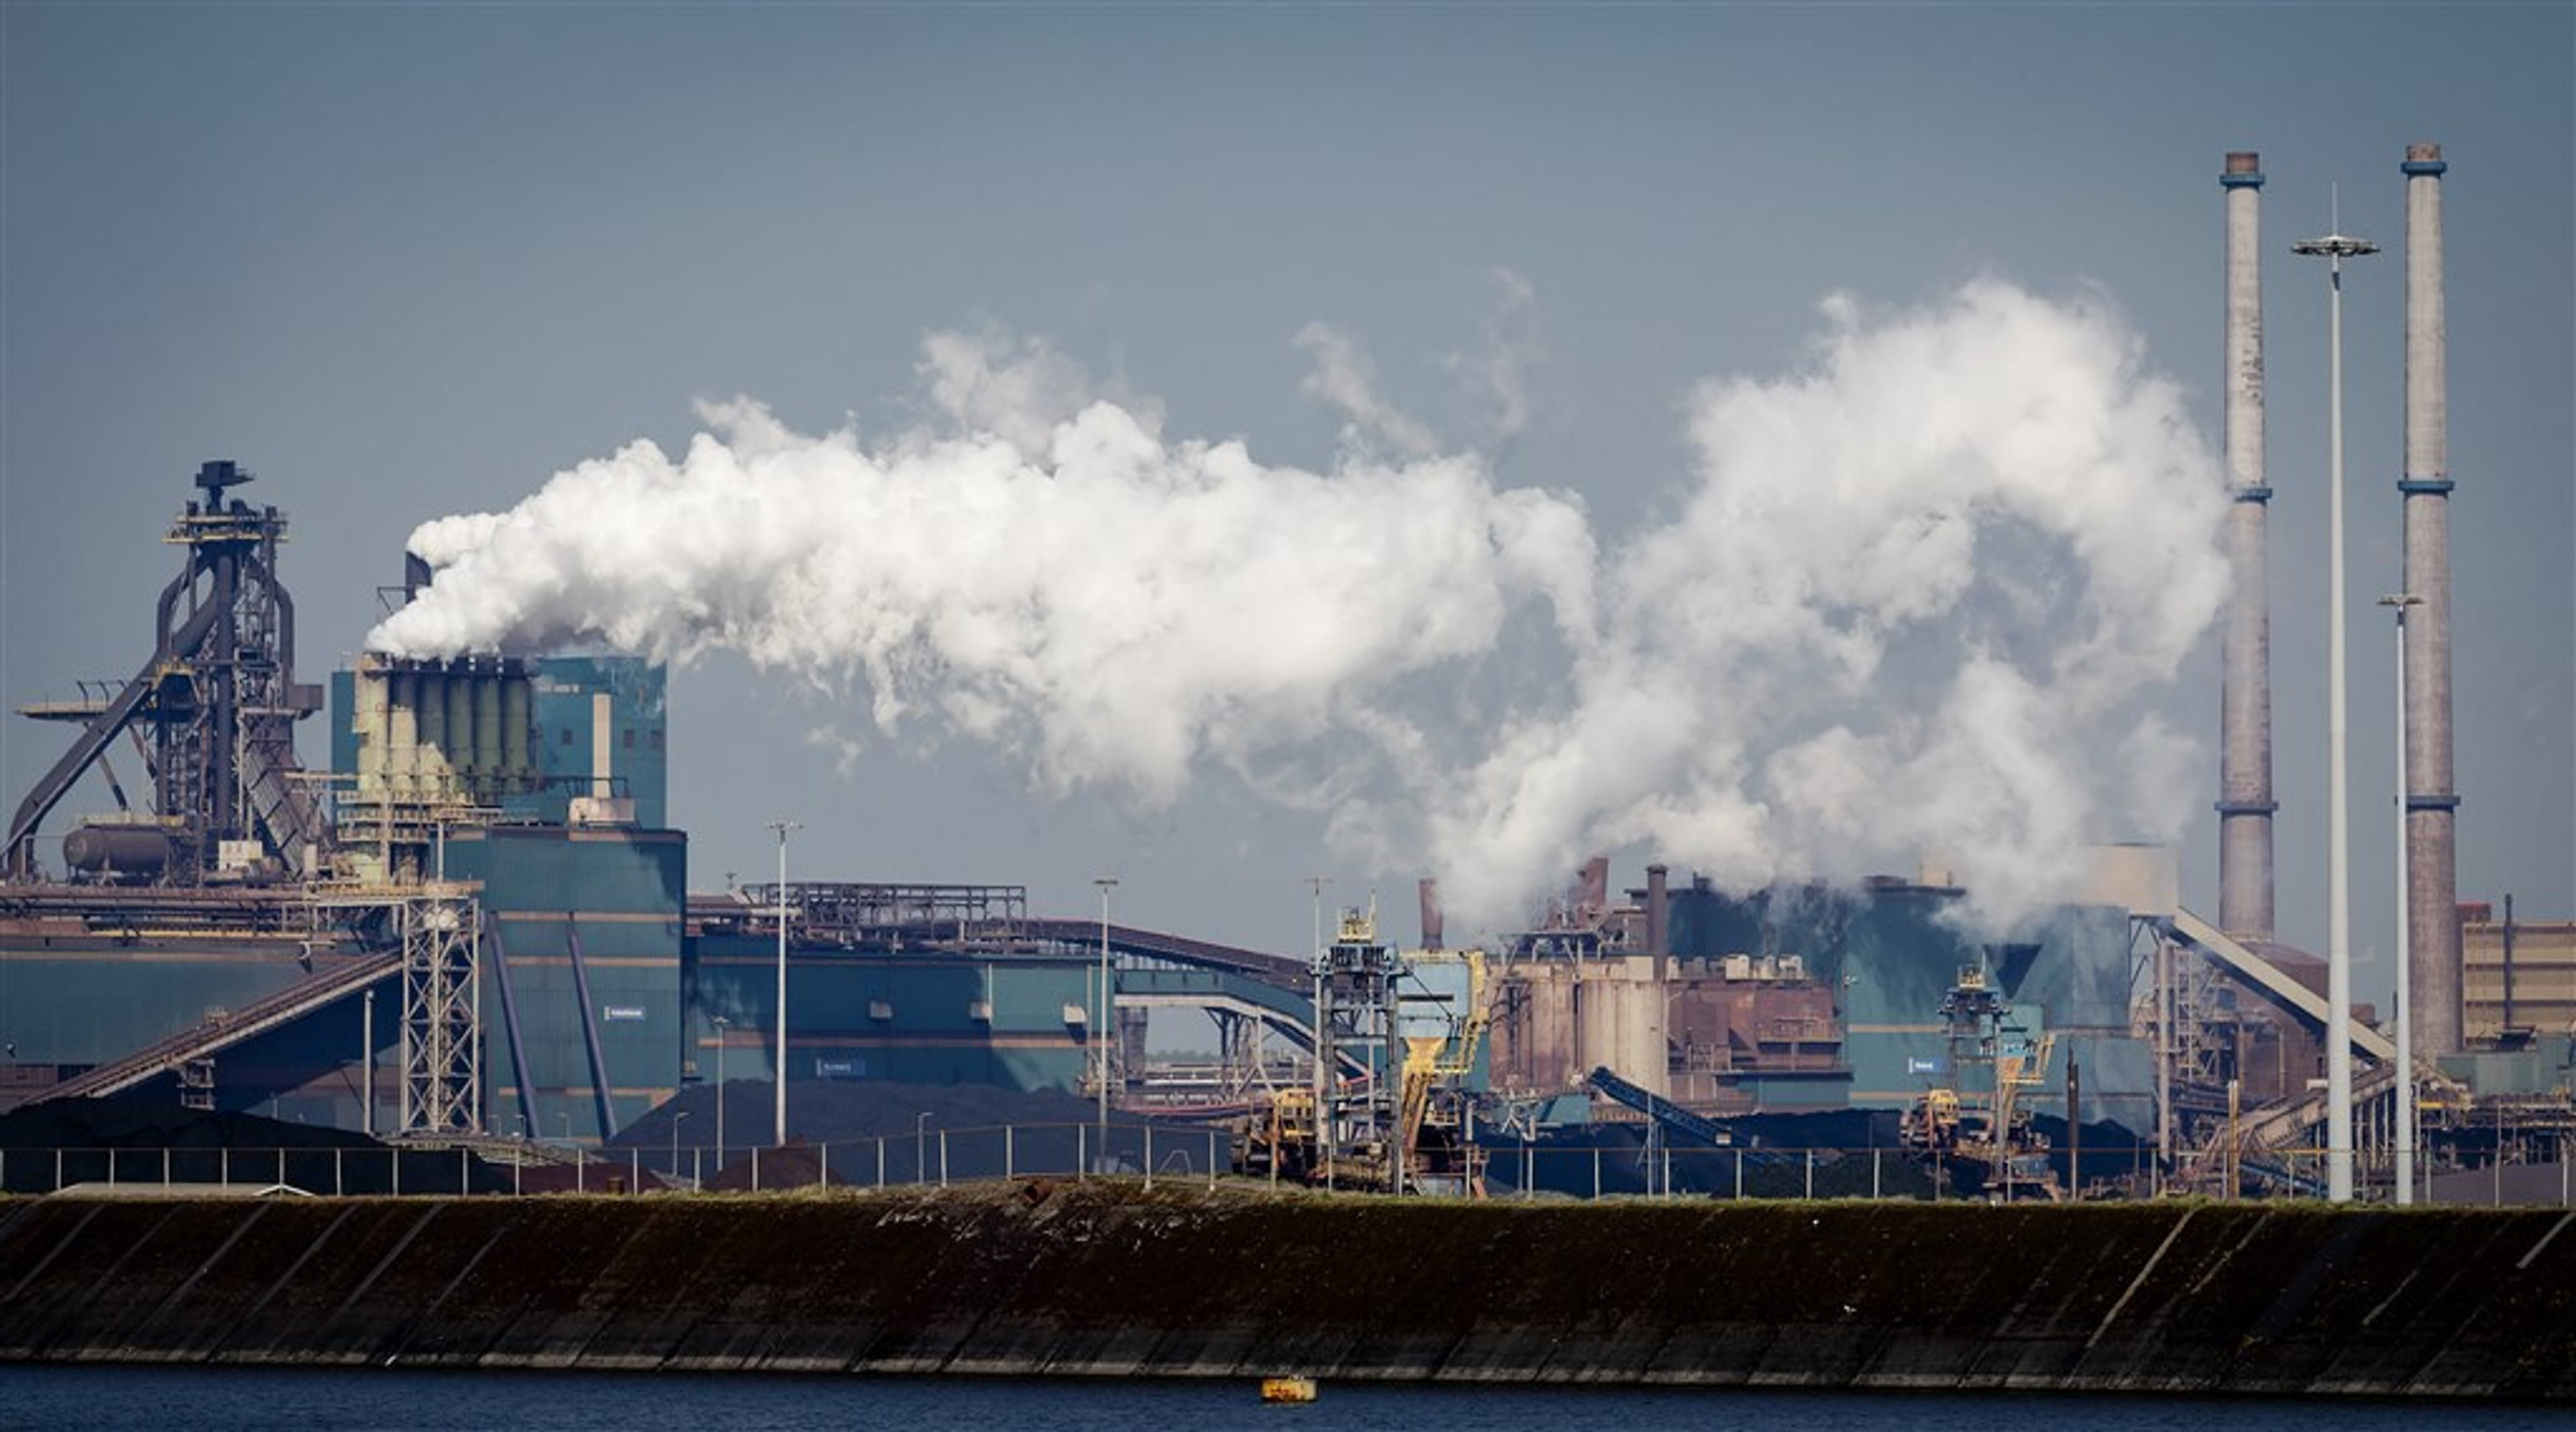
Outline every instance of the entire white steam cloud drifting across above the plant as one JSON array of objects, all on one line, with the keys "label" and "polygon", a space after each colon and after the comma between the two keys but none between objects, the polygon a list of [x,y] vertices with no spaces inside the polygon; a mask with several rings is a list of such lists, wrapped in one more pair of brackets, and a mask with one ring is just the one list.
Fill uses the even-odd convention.
[{"label": "entire white steam cloud drifting across above the plant", "polygon": [[[368,646],[734,649],[1139,806],[1213,760],[1479,925],[1631,842],[1739,889],[1940,847],[1989,912],[2056,899],[2079,845],[2187,814],[2195,752],[2143,698],[2228,587],[2218,464],[2097,299],[1824,314],[1803,371],[1690,391],[1690,492],[1607,546],[1468,453],[1262,466],[1038,345],[933,335],[945,430],[706,407],[677,461],[425,523],[435,582]],[[1507,641],[1561,670],[1471,703]]]}]

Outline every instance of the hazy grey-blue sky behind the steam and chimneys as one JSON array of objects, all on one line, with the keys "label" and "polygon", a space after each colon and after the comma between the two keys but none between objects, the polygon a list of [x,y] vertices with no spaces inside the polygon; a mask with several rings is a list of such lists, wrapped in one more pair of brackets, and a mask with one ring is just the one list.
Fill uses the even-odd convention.
[{"label": "hazy grey-blue sky behind the steam and chimneys", "polygon": [[[1443,435],[1504,294],[1530,425],[1499,482],[1669,520],[1700,379],[1803,366],[1816,304],[1999,276],[2097,288],[2218,435],[2226,149],[2267,245],[2280,907],[2324,945],[2324,273],[2347,286],[2354,943],[2388,943],[2401,178],[2434,139],[2450,252],[2463,899],[2576,914],[2576,23],[2439,8],[258,8],[0,13],[0,695],[144,657],[196,461],[294,518],[307,680],[422,520],[495,510],[703,397],[819,433],[914,415],[925,330],[1046,335],[1175,435],[1324,466],[1327,322]],[[1293,533],[1283,533],[1293,541]],[[1316,554],[1316,579],[1334,579]],[[2184,894],[2215,907],[2215,631],[2164,701],[2202,744]],[[672,690],[696,883],[1025,881],[1301,945],[1314,816],[1206,773],[1170,811],[1043,801],[976,744],[842,770],[819,693],[732,657]],[[307,760],[322,731],[307,729]],[[15,801],[59,731],[0,726]],[[70,806],[90,809],[98,798]],[[2123,832],[2102,832],[2117,837]],[[1641,853],[1620,853],[1638,878]],[[1409,912],[1399,927],[1409,930]],[[2362,997],[2380,997],[2365,963]]]}]

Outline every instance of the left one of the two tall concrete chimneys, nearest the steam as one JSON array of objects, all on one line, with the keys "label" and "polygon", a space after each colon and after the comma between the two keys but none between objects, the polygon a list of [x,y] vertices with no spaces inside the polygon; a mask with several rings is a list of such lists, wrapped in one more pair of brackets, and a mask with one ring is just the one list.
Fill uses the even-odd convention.
[{"label": "left one of the two tall concrete chimneys, nearest the steam", "polygon": [[2218,690],[2218,925],[2272,937],[2272,600],[2262,471],[2262,160],[2228,155],[2228,598]]}]

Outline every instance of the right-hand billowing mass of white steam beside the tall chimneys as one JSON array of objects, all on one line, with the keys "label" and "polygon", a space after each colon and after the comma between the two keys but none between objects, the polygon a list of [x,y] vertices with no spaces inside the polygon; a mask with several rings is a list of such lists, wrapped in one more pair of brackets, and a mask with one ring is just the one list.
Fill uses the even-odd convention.
[{"label": "right-hand billowing mass of white steam beside the tall chimneys", "polygon": [[2179,832],[2190,788],[2123,762],[2177,765],[2143,698],[2228,585],[2182,394],[2094,299],[1824,312],[1808,371],[1690,397],[1698,487],[1610,556],[1571,703],[1430,811],[1453,912],[1646,842],[1731,889],[1940,853],[2012,919]]}]

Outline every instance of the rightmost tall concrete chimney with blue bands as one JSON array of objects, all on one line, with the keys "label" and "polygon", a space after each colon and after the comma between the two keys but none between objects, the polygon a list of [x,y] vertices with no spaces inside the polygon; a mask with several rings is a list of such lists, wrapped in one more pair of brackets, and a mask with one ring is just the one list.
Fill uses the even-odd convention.
[{"label": "rightmost tall concrete chimney with blue bands", "polygon": [[2450,415],[2439,144],[2406,162],[2406,937],[2414,1053],[2460,1048],[2460,855],[2450,770]]}]

